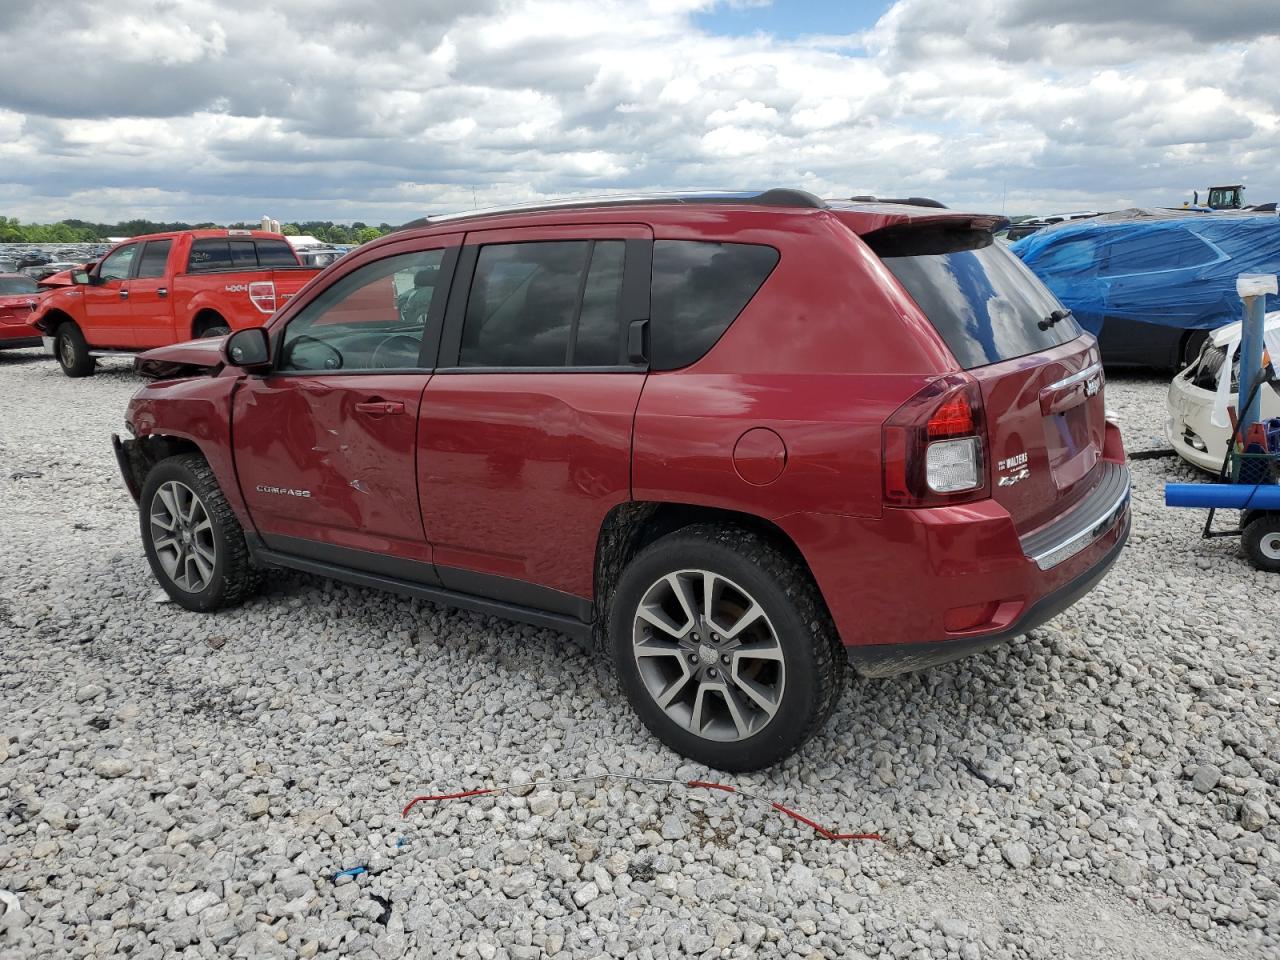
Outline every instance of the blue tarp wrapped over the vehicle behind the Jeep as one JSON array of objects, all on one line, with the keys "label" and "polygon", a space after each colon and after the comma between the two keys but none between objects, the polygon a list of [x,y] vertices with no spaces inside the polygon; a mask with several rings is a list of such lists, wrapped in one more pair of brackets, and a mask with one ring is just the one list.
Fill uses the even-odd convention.
[{"label": "blue tarp wrapped over the vehicle behind the Jeep", "polygon": [[[1280,218],[1124,211],[1043,229],[1010,250],[1093,334],[1106,317],[1212,329],[1240,319],[1238,275],[1280,273]],[[1268,297],[1276,308],[1280,298]]]}]

